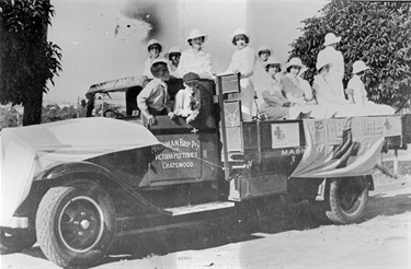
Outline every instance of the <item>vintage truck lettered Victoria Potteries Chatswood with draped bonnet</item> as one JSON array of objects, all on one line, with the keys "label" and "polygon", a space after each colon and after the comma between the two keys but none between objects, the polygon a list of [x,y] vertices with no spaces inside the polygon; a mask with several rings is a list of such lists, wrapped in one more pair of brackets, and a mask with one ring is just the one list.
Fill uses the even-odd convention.
[{"label": "vintage truck lettered Victoria Potteries Chatswood with draped bonnet", "polygon": [[[240,91],[236,74],[199,81],[192,124],[158,116],[146,128],[136,104],[145,83],[92,85],[89,118],[2,131],[1,254],[37,242],[56,265],[88,267],[117,237],[278,195],[308,200],[323,222],[353,223],[381,149],[411,141],[410,115],[243,121],[241,102],[228,98]],[[182,80],[168,84],[173,100]]]}]

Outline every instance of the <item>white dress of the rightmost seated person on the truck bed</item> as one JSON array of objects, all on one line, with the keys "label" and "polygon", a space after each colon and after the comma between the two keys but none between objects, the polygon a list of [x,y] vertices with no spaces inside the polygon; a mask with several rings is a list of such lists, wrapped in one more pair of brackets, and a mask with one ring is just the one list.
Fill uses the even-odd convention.
[{"label": "white dress of the rightmost seated person on the truck bed", "polygon": [[354,74],[349,81],[347,89],[354,90],[354,104],[363,108],[366,115],[392,115],[395,113],[395,109],[388,105],[380,105],[368,101],[367,91],[359,75]]}]

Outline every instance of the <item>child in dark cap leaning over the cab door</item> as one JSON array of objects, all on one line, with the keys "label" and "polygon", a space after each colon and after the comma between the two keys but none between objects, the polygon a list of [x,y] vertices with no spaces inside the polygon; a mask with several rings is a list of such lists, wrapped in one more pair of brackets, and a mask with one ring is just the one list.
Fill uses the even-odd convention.
[{"label": "child in dark cap leaning over the cab door", "polygon": [[195,120],[199,114],[202,105],[201,93],[198,90],[199,77],[196,73],[190,72],[184,74],[184,89],[180,90],[175,95],[174,115],[186,117],[187,124]]}]

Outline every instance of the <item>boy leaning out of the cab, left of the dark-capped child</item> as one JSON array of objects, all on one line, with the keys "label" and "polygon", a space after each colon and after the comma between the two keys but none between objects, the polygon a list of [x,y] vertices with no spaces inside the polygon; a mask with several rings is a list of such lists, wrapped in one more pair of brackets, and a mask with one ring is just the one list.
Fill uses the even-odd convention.
[{"label": "boy leaning out of the cab, left of the dark-capped child", "polygon": [[167,59],[156,59],[151,65],[151,73],[155,79],[137,96],[137,106],[149,126],[157,124],[156,116],[174,117],[169,105],[170,95],[165,84],[170,78]]}]

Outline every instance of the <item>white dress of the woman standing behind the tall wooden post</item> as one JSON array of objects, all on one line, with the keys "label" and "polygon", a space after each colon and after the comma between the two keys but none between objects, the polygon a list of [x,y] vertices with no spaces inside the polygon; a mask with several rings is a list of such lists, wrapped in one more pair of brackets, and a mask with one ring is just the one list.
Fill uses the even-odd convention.
[{"label": "white dress of the woman standing behind the tall wooden post", "polygon": [[254,102],[254,85],[252,77],[254,74],[256,56],[254,49],[244,47],[237,49],[232,57],[231,62],[226,73],[240,72],[240,86],[241,93],[232,94],[231,98],[241,101],[241,112],[243,120],[251,120],[252,106]]}]

